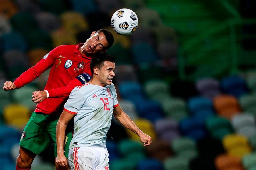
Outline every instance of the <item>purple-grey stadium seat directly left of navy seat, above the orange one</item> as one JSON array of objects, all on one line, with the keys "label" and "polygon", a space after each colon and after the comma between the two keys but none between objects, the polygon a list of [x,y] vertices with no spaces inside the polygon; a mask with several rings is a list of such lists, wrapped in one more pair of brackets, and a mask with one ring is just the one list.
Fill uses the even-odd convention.
[{"label": "purple-grey stadium seat directly left of navy seat, above the orange one", "polygon": [[220,84],[216,79],[203,78],[196,81],[196,89],[201,96],[212,99],[220,94]]}]

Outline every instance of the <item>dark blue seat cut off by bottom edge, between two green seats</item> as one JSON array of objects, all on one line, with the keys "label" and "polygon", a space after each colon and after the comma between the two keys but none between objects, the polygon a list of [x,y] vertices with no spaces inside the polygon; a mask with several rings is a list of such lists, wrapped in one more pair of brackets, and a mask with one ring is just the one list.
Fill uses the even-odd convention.
[{"label": "dark blue seat cut off by bottom edge, between two green seats", "polygon": [[137,169],[138,170],[154,170],[154,169],[164,170],[162,163],[160,161],[155,160],[155,159],[141,160],[138,163]]}]

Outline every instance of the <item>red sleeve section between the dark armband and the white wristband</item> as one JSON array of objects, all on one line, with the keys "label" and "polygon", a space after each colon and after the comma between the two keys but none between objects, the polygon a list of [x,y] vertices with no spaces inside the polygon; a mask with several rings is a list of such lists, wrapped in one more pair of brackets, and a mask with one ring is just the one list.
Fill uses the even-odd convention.
[{"label": "red sleeve section between the dark armband and the white wristband", "polygon": [[71,80],[67,86],[65,87],[60,87],[57,89],[51,89],[47,90],[49,93],[50,98],[58,98],[58,97],[68,97],[71,91],[74,89],[76,86],[81,86],[82,83],[78,79],[73,79]]}]

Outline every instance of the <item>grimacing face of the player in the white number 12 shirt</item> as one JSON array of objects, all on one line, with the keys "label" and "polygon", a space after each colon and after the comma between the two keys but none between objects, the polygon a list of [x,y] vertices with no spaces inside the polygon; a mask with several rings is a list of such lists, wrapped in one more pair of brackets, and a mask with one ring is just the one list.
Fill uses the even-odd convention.
[{"label": "grimacing face of the player in the white number 12 shirt", "polygon": [[110,61],[104,61],[104,65],[101,67],[101,70],[99,71],[100,83],[103,86],[111,84],[113,77],[115,76],[115,68],[115,63]]}]

